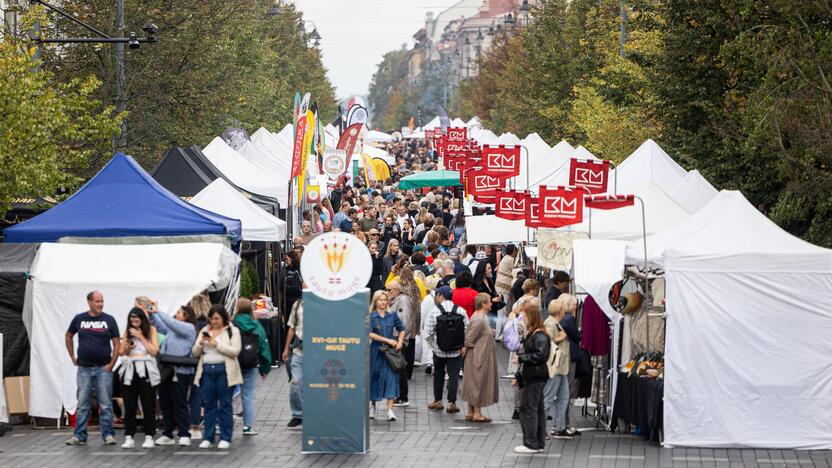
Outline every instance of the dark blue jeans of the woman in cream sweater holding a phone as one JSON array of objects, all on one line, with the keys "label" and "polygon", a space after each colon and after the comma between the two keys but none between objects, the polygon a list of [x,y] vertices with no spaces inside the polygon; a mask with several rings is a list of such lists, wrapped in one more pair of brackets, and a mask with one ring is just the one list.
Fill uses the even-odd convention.
[{"label": "dark blue jeans of the woman in cream sweater holding a phone", "polygon": [[217,419],[219,419],[220,440],[231,442],[234,415],[225,364],[203,364],[199,386],[202,404],[205,407],[205,432],[202,434],[202,440],[214,442]]}]

